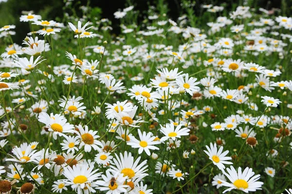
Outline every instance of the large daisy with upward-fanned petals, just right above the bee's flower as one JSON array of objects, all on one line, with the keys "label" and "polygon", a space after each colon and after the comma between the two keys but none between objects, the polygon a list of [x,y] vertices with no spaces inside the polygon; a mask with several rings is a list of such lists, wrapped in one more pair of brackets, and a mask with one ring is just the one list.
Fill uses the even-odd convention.
[{"label": "large daisy with upward-fanned petals, just right above the bee's flower", "polygon": [[139,156],[135,161],[131,153],[125,151],[124,155],[120,153],[120,157],[115,154],[113,158],[113,165],[110,165],[110,168],[113,172],[119,172],[125,176],[128,176],[128,179],[143,178],[146,175],[147,171],[147,160],[140,162],[141,156]]}]

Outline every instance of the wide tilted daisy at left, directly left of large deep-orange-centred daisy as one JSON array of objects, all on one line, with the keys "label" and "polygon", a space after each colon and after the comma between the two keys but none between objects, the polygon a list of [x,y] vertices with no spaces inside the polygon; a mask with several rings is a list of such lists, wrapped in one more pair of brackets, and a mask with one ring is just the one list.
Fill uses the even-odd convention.
[{"label": "wide tilted daisy at left, directly left of large deep-orange-centred daisy", "polygon": [[45,112],[42,112],[38,115],[38,121],[46,124],[49,128],[48,131],[53,132],[54,139],[57,139],[58,136],[67,137],[64,133],[73,133],[74,126],[70,123],[67,123],[65,116],[59,114],[48,115]]}]

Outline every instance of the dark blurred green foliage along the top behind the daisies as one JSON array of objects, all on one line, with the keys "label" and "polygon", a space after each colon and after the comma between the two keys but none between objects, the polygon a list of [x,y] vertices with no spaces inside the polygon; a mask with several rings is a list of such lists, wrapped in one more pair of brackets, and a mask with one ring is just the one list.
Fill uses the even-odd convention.
[{"label": "dark blurred green foliage along the top behind the daisies", "polygon": [[[185,2],[186,0],[184,0]],[[238,5],[242,5],[243,0],[187,0],[195,3],[194,13],[200,16],[203,11],[201,4],[213,4],[226,7],[228,10],[235,10]],[[290,16],[292,11],[292,0],[248,0],[254,8],[262,7],[267,10],[281,9],[282,16]],[[65,4],[70,2],[71,9],[66,8]],[[20,22],[19,17],[23,15],[22,11],[33,11],[34,14],[41,15],[44,20],[56,20],[58,22],[67,22],[63,20],[64,14],[69,16],[76,14],[82,17],[81,6],[90,6],[91,17],[97,19],[107,18],[112,21],[112,33],[119,34],[119,19],[115,19],[113,13],[129,5],[134,5],[135,10],[139,11],[139,20],[146,17],[148,8],[153,5],[158,6],[161,0],[0,0],[0,27],[14,24],[17,26],[14,37],[16,42],[21,42],[26,33],[29,32],[29,25],[26,22]],[[182,0],[164,0],[167,3],[167,15],[176,20],[183,13]],[[73,8],[73,9],[72,9]],[[219,14],[219,13],[217,13]]]}]

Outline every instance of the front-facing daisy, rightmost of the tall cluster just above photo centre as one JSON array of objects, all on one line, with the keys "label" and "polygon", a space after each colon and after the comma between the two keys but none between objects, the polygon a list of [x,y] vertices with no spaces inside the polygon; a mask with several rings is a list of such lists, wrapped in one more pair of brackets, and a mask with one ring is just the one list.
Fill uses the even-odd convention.
[{"label": "front-facing daisy, rightmost of the tall cluster just above photo centre", "polygon": [[189,95],[193,96],[193,92],[198,92],[200,89],[198,85],[200,82],[196,82],[197,78],[188,78],[188,74],[185,74],[185,80],[183,76],[177,78],[177,84],[180,87],[180,90],[186,91]]}]

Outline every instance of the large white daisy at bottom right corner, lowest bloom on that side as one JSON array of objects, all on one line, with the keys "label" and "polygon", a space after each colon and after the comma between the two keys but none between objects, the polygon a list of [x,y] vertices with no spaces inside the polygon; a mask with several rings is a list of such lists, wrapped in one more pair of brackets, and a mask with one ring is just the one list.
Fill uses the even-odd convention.
[{"label": "large white daisy at bottom right corner, lowest bloom on that side", "polygon": [[238,168],[238,173],[233,166],[226,169],[228,173],[223,172],[225,176],[229,179],[229,182],[219,179],[222,182],[222,186],[229,187],[223,194],[229,192],[233,189],[238,189],[244,193],[255,192],[256,190],[261,190],[263,182],[257,181],[260,178],[260,175],[255,175],[253,169],[246,167],[243,172],[241,168]]}]

